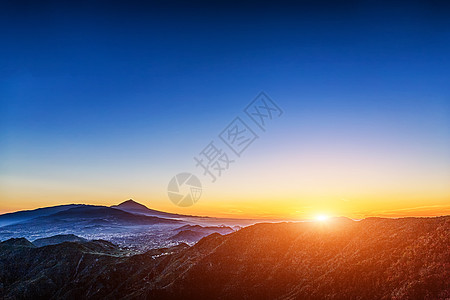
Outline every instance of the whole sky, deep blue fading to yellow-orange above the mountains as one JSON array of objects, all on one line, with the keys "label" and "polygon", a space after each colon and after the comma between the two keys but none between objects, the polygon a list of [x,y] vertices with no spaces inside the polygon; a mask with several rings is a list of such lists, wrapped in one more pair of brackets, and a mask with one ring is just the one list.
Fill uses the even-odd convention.
[{"label": "whole sky, deep blue fading to yellow-orange above the mountains", "polygon": [[[450,214],[450,6],[335,2],[2,1],[0,213]],[[261,91],[283,111],[265,131]],[[236,117],[258,136],[240,157]],[[234,160],[215,182],[211,141]],[[189,207],[167,195],[182,172]]]}]

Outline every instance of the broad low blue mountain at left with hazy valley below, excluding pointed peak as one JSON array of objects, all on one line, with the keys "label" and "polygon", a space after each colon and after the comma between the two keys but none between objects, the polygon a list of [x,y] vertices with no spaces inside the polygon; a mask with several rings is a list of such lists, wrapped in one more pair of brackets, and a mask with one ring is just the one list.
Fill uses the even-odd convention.
[{"label": "broad low blue mountain at left with hazy valley below, excluding pointed peak", "polygon": [[172,229],[186,224],[168,219],[133,214],[107,206],[80,205],[57,213],[0,227],[0,241],[25,237],[38,240],[55,235],[76,235],[102,239],[136,252],[173,244],[167,238]]}]

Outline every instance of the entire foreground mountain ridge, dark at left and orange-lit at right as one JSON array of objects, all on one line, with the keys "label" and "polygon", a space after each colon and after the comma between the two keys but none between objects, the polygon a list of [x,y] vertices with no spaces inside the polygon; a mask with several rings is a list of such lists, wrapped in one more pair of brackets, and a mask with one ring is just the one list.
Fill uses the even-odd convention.
[{"label": "entire foreground mountain ridge, dark at left and orange-lit at right", "polygon": [[448,299],[450,217],[266,223],[127,256],[0,244],[5,299]]}]

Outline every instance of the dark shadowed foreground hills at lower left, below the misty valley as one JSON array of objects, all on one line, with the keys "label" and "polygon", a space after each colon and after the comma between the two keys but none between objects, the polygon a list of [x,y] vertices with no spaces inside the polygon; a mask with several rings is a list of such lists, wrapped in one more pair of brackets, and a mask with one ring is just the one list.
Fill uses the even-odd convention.
[{"label": "dark shadowed foreground hills at lower left, below the misty valley", "polygon": [[[188,246],[180,244],[129,256],[107,241],[63,243],[40,248],[0,243],[0,299],[110,299],[126,277],[145,274]],[[139,266],[139,267],[138,267]],[[125,295],[122,295],[122,297]],[[112,298],[111,298],[112,297]]]}]

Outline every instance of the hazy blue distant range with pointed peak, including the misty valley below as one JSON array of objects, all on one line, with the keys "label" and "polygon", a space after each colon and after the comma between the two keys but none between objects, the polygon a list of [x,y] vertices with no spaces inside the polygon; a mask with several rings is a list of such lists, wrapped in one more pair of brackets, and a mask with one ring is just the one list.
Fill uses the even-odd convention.
[{"label": "hazy blue distant range with pointed peak, including the misty valley below", "polygon": [[[153,210],[131,199],[111,207],[71,204],[0,215],[0,241],[25,237],[45,242],[48,238],[57,241],[54,236],[72,235],[86,240],[103,239],[143,252],[180,242],[192,244],[213,232],[234,231],[224,231],[222,226],[200,226],[210,220],[218,223],[221,219]],[[183,225],[196,227],[189,236],[187,232],[176,235],[176,229]]]}]

